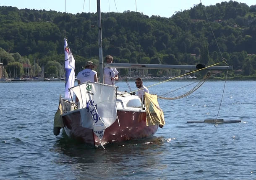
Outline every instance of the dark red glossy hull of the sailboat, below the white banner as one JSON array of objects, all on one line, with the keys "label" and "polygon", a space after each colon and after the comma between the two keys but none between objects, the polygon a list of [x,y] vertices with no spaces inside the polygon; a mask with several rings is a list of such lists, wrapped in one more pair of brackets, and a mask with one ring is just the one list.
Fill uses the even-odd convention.
[{"label": "dark red glossy hull of the sailboat, below the white banner", "polygon": [[[118,122],[119,119],[119,122]],[[118,119],[104,131],[102,144],[141,139],[154,135],[157,125],[146,126],[146,112],[118,111]],[[81,127],[80,112],[63,115],[64,129],[69,137],[98,147],[98,137],[92,129]],[[120,124],[120,126],[119,126]]]}]

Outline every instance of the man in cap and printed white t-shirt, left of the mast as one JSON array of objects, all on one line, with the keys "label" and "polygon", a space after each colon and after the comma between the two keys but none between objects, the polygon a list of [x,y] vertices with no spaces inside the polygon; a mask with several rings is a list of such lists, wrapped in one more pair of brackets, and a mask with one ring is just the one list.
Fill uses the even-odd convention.
[{"label": "man in cap and printed white t-shirt, left of the mast", "polygon": [[94,67],[97,67],[97,65],[95,65],[91,61],[87,61],[85,63],[85,69],[83,71],[80,71],[76,76],[78,84],[81,84],[86,81],[98,82],[97,72],[92,70]]}]

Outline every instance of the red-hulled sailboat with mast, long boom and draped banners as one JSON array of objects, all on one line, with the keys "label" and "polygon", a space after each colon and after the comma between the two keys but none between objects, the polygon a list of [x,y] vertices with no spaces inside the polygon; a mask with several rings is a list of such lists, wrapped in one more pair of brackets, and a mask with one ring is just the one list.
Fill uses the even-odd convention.
[{"label": "red-hulled sailboat with mast, long boom and draped banners", "polygon": [[[162,109],[157,102],[145,105],[134,92],[117,91],[115,86],[103,84],[102,28],[100,0],[97,0],[99,33],[99,74],[100,83],[85,82],[68,89],[70,99],[60,96],[59,109],[55,114],[54,134],[63,128],[68,137],[77,139],[93,147],[130,139],[153,136],[163,122],[149,123],[152,114],[160,114]],[[68,50],[70,53],[70,51]],[[69,54],[69,58],[72,58]],[[159,65],[109,63],[105,67],[146,68],[146,69],[199,69],[207,66]],[[229,70],[230,66],[209,67],[212,70]],[[66,79],[67,81],[67,79]],[[78,103],[73,100],[76,95]],[[68,95],[68,96],[69,96]],[[147,95],[147,94],[146,94]],[[154,107],[153,105],[154,104]],[[153,109],[153,113],[152,113]]]}]

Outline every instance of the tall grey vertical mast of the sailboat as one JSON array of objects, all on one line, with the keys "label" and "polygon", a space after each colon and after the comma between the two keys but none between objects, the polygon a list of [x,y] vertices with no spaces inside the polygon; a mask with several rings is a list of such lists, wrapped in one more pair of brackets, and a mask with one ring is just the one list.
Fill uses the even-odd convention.
[{"label": "tall grey vertical mast of the sailboat", "polygon": [[99,30],[99,82],[103,83],[103,56],[102,56],[102,31],[101,31],[101,14],[100,14],[100,0],[97,0],[98,13],[98,30]]}]

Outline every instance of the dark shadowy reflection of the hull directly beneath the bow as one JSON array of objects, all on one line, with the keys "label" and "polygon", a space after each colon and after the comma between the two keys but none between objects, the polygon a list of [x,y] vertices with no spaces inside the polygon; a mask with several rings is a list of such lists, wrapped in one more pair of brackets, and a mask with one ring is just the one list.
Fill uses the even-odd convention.
[{"label": "dark shadowy reflection of the hull directly beneath the bow", "polygon": [[[145,152],[154,154],[154,151],[157,151],[157,148],[165,142],[169,142],[170,139],[164,140],[164,137],[149,137],[145,139],[130,140],[121,143],[112,143],[104,145],[105,149],[102,147],[94,149],[93,147],[85,144],[81,144],[74,139],[71,139],[67,136],[60,137],[56,144],[54,145],[54,151],[63,152],[63,154],[70,157],[93,157],[96,152],[97,156],[107,155],[114,152],[117,155],[116,158],[125,155],[143,155]],[[114,158],[115,159],[115,158]]]}]

